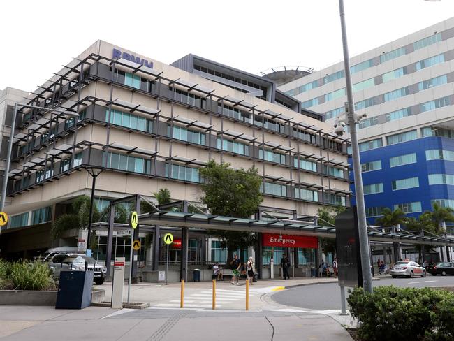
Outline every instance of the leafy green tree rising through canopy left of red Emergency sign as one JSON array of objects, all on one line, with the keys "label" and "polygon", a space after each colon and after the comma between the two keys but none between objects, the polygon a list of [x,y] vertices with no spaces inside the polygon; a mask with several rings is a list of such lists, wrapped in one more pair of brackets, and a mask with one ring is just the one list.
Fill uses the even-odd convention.
[{"label": "leafy green tree rising through canopy left of red Emergency sign", "polygon": [[[212,215],[249,219],[263,201],[260,191],[262,179],[255,167],[233,170],[228,166],[230,164],[217,164],[211,160],[199,170],[204,180],[201,201],[207,205]],[[255,233],[221,230],[209,233],[221,239],[221,247],[228,248],[228,259],[233,250],[256,243]]]}]

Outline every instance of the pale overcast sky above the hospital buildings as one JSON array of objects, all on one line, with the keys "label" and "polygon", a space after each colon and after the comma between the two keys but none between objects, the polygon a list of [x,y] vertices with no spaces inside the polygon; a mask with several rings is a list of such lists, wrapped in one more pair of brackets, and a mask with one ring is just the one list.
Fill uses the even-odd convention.
[{"label": "pale overcast sky above the hospital buildings", "polygon": [[[454,0],[344,1],[351,57],[454,16]],[[3,0],[0,13],[0,89],[34,91],[97,39],[251,73],[342,60],[337,0]]]}]

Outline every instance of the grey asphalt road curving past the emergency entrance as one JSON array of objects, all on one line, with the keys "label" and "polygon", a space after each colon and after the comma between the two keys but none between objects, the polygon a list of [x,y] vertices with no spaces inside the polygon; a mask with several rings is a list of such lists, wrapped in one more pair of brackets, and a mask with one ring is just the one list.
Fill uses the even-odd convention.
[{"label": "grey asphalt road curving past the emergency entrance", "polygon": [[[440,275],[427,277],[381,277],[373,281],[374,286],[394,285],[402,287],[423,288],[425,286],[454,286],[454,276]],[[346,297],[349,296],[346,288]],[[281,305],[290,305],[311,310],[335,310],[341,308],[340,287],[337,283],[313,284],[298,286],[293,289],[279,291],[271,296],[272,300]]]}]

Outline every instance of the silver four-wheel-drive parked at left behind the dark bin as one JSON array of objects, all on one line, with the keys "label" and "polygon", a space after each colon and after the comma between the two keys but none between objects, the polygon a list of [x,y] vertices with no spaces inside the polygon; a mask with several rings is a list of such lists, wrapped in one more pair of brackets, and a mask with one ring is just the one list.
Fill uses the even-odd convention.
[{"label": "silver four-wheel-drive parked at left behind the dark bin", "polygon": [[85,254],[55,254],[49,262],[52,276],[57,278],[60,277],[61,271],[83,271],[85,265],[89,269],[94,269],[94,282],[98,285],[103,284],[107,269]]}]

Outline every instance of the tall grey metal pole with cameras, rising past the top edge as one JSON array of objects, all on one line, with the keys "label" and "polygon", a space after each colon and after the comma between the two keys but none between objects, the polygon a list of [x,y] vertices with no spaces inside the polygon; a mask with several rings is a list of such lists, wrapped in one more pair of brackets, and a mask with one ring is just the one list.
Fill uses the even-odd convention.
[{"label": "tall grey metal pole with cameras, rising past the top edge", "polygon": [[358,209],[358,228],[360,238],[360,256],[361,256],[361,270],[363,271],[363,286],[365,291],[372,293],[372,273],[370,271],[370,256],[369,256],[369,238],[367,237],[367,223],[365,214],[365,203],[363,193],[363,177],[361,176],[361,161],[358,146],[358,136],[356,133],[356,123],[358,119],[355,115],[355,103],[353,101],[353,89],[351,86],[351,73],[350,73],[350,59],[349,47],[347,44],[347,34],[345,27],[345,11],[344,0],[339,0],[339,13],[342,29],[342,46],[344,50],[344,70],[346,82],[346,119],[349,123],[350,136],[351,136],[351,150],[353,161],[353,175],[355,177],[355,196],[356,207]]}]

